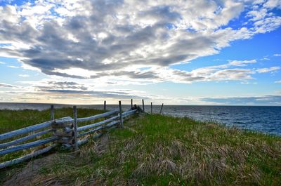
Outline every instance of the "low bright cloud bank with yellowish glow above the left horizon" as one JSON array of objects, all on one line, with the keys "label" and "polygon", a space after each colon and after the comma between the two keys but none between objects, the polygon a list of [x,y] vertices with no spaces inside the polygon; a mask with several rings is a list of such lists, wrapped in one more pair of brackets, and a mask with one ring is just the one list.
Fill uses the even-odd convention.
[{"label": "low bright cloud bank with yellowish glow above the left horizon", "polygon": [[[81,84],[74,81],[59,81],[58,79],[44,79],[41,81],[20,81],[19,84],[29,86],[13,86],[0,84],[0,88],[13,88],[13,91],[0,91],[1,98],[13,102],[32,100],[35,102],[59,102],[85,104],[98,103],[100,98],[112,100],[129,100],[131,98],[148,98],[142,91],[128,89],[96,88],[91,84]],[[26,99],[25,99],[26,98]],[[3,99],[2,99],[3,100]],[[4,99],[5,100],[5,99]]]}]

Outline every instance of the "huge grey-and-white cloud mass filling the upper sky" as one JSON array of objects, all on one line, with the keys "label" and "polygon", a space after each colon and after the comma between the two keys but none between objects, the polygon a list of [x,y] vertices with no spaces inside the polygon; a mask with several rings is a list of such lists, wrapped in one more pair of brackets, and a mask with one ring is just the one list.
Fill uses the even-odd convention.
[{"label": "huge grey-and-white cloud mass filling the upper sky", "polygon": [[[277,29],[281,18],[271,11],[273,6],[280,7],[275,1],[256,8],[250,1],[233,0],[61,0],[1,6],[0,44],[11,46],[0,48],[0,55],[18,58],[23,66],[44,74],[74,79],[110,74],[166,81],[162,72],[167,71],[172,81],[183,76],[181,82],[249,79],[249,69],[216,70],[204,77],[178,72],[171,65],[219,53],[231,41]],[[231,27],[229,22],[244,12],[249,25]],[[228,66],[254,62],[233,61]],[[141,71],[143,67],[150,70]]]}]

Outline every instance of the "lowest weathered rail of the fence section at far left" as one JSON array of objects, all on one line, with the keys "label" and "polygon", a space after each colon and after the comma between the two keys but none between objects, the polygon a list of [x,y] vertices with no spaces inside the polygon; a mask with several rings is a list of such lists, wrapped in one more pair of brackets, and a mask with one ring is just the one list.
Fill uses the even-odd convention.
[{"label": "lowest weathered rail of the fence section at far left", "polygon": [[57,146],[57,144],[50,145],[48,147],[45,147],[44,149],[37,150],[37,151],[32,152],[30,154],[27,154],[27,155],[25,155],[23,157],[19,157],[17,159],[13,159],[13,160],[10,160],[10,161],[3,162],[3,163],[0,164],[0,168],[5,168],[7,166],[12,166],[14,164],[19,164],[20,162],[26,161],[27,159],[31,159],[33,157],[37,157],[40,154],[43,154],[45,152],[48,152],[48,151],[52,150],[55,146]]}]

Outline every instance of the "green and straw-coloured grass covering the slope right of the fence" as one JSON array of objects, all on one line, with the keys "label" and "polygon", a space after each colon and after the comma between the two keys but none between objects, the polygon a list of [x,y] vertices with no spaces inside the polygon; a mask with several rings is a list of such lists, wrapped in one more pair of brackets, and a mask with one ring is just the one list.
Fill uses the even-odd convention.
[{"label": "green and straw-coloured grass covering the slope right of the fence", "polygon": [[[159,114],[41,164],[32,185],[281,185],[281,138]],[[8,168],[2,175],[13,176]]]}]

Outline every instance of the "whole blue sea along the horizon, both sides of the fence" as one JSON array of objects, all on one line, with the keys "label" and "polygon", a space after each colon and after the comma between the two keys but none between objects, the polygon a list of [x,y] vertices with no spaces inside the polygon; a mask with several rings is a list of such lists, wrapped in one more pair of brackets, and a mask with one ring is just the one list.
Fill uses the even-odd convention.
[{"label": "whole blue sea along the horizon, both sides of the fence", "polygon": [[[72,105],[55,105],[56,108]],[[103,105],[77,105],[77,108],[103,109]],[[129,109],[123,105],[122,109]],[[41,103],[6,103],[0,102],[0,109],[49,109],[50,104]],[[118,105],[107,105],[107,109]],[[152,112],[159,113],[161,105],[153,105]],[[145,112],[151,112],[150,105],[145,105]],[[79,114],[79,112],[78,112]],[[271,106],[199,106],[199,105],[164,105],[162,114],[175,117],[190,117],[198,121],[214,121],[226,126],[236,126],[251,131],[272,135],[281,135],[281,107]]]}]

